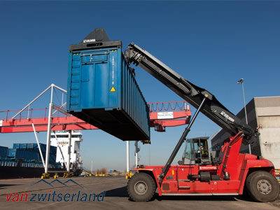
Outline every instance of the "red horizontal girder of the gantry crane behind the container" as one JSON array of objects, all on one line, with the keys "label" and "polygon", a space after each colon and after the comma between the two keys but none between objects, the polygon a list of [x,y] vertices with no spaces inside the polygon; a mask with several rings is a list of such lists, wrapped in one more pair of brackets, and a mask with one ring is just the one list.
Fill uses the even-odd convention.
[{"label": "red horizontal girder of the gantry crane behind the container", "polygon": [[[186,102],[150,102],[148,104],[151,127],[155,127],[157,132],[165,132],[166,127],[186,125],[190,120],[190,106],[186,105]],[[59,109],[59,112],[57,115],[52,115],[52,131],[98,129],[98,127],[65,113],[59,106],[54,105],[54,107]],[[34,132],[32,124],[34,124],[36,132],[48,130],[48,116],[46,115],[48,108],[25,109],[17,118],[10,118],[12,113],[18,111],[20,110],[0,111],[1,116],[5,116],[0,120],[0,133]],[[38,111],[41,111],[42,116],[32,117],[32,113]]]}]

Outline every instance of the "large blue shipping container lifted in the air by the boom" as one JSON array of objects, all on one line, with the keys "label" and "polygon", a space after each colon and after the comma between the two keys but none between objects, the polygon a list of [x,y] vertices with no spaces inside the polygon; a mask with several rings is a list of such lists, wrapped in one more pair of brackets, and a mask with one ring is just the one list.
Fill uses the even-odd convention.
[{"label": "large blue shipping container lifted in the air by the boom", "polygon": [[149,140],[148,105],[121,43],[96,34],[70,47],[67,110],[122,140]]}]

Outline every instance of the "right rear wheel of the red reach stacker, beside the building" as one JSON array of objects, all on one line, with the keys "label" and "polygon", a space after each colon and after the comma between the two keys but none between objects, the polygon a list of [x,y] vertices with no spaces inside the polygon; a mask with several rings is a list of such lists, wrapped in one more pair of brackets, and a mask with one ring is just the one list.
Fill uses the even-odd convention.
[{"label": "right rear wheel of the red reach stacker, beside the building", "polygon": [[246,179],[248,194],[256,202],[272,202],[279,197],[279,183],[272,174],[253,172]]}]

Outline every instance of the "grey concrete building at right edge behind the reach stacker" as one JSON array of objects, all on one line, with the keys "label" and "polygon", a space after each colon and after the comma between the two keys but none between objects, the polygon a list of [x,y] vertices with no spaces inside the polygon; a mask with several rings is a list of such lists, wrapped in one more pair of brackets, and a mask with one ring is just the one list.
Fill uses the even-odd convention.
[{"label": "grey concrete building at right edge behind the reach stacker", "polygon": [[[254,97],[246,105],[248,125],[258,128],[257,141],[251,144],[251,153],[273,162],[280,174],[280,96]],[[246,123],[244,109],[237,116]],[[212,148],[219,150],[230,134],[221,130],[211,139]],[[241,153],[249,153],[248,145],[241,146]]]}]

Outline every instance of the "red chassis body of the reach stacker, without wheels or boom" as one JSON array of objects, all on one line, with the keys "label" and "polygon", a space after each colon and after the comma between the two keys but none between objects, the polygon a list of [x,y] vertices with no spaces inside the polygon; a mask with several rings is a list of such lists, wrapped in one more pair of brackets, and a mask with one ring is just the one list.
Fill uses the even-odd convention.
[{"label": "red chassis body of the reach stacker, without wheels or boom", "polygon": [[[221,148],[219,165],[178,165],[171,166],[160,186],[158,177],[162,166],[146,166],[136,169],[153,177],[158,194],[161,195],[242,195],[246,177],[257,170],[269,172],[274,176],[274,166],[269,160],[255,155],[239,153],[242,133],[231,137]],[[188,179],[201,172],[218,175],[216,181]]]}]

